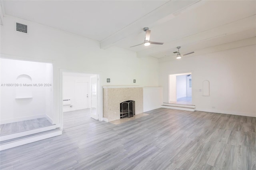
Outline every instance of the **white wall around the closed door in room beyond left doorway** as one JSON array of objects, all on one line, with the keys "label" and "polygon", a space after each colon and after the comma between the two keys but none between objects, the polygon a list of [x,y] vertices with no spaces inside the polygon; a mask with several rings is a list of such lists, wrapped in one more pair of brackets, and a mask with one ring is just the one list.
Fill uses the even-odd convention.
[{"label": "white wall around the closed door in room beyond left doorway", "polygon": [[[65,76],[63,75],[63,86],[62,86],[62,91],[63,91],[63,99],[70,99],[71,100],[71,105],[70,106],[63,106],[63,112],[66,111],[75,111],[77,110],[76,108],[76,82],[88,82],[88,96],[90,93],[90,75],[88,77],[79,77],[79,76]],[[88,108],[90,107],[90,99],[88,97]]]}]

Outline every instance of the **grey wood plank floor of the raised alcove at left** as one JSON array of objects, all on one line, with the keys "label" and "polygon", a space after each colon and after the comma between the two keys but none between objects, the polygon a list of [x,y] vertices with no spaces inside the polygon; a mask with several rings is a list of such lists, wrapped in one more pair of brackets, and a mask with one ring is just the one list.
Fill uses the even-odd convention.
[{"label": "grey wood plank floor of the raised alcove at left", "polygon": [[0,128],[1,128],[0,136],[17,133],[17,132],[23,132],[26,130],[32,130],[35,128],[47,127],[51,125],[52,123],[50,123],[46,118],[38,118],[38,119],[31,119],[27,121],[6,123],[6,124],[0,125]]}]

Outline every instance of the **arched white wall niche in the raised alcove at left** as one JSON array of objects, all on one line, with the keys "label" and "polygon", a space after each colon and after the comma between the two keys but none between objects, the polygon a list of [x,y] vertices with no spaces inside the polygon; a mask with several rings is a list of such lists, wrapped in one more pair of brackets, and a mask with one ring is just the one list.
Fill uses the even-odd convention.
[{"label": "arched white wall niche in the raised alcove at left", "polygon": [[32,98],[32,78],[21,74],[16,78],[16,99]]}]

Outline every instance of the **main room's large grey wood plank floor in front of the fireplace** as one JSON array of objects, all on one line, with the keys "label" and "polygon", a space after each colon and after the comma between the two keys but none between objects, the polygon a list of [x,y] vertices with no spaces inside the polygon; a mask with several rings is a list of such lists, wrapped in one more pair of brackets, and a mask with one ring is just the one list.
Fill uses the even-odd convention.
[{"label": "main room's large grey wood plank floor in front of the fireplace", "polygon": [[120,125],[90,119],[60,136],[4,150],[0,169],[252,170],[256,118],[173,109]]}]

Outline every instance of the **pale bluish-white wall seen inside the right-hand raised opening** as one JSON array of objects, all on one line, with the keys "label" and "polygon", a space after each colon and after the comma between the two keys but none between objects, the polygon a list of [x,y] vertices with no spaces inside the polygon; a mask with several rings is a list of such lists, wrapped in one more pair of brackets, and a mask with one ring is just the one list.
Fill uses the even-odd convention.
[{"label": "pale bluish-white wall seen inside the right-hand raised opening", "polygon": [[187,94],[186,94],[187,93],[186,77],[187,77],[187,75],[177,75],[176,76],[177,99],[187,96]]}]

